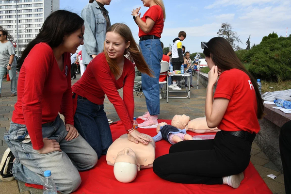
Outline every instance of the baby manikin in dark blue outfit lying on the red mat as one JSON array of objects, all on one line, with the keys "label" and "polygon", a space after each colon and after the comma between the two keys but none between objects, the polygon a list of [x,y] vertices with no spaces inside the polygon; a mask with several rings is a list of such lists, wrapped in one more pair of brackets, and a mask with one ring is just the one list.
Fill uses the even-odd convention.
[{"label": "baby manikin in dark blue outfit lying on the red mat", "polygon": [[192,136],[187,134],[186,129],[178,129],[165,122],[159,123],[157,133],[158,134],[153,137],[155,142],[164,139],[170,144],[176,144],[184,140],[193,140]]}]

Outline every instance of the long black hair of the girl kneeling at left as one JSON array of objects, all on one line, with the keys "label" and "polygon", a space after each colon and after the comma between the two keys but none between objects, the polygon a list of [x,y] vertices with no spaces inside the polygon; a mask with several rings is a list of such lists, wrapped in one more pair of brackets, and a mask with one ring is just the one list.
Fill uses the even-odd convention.
[{"label": "long black hair of the girl kneeling at left", "polygon": [[69,35],[80,29],[84,20],[75,13],[58,10],[51,13],[45,20],[40,32],[37,34],[23,51],[17,67],[20,68],[31,49],[38,43],[48,43],[51,48],[60,46],[65,35]]}]

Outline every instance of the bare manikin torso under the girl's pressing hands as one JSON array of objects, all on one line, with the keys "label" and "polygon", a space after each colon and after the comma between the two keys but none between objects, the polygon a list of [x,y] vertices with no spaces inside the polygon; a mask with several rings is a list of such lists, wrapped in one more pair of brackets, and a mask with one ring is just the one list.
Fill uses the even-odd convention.
[{"label": "bare manikin torso under the girl's pressing hands", "polygon": [[126,147],[129,147],[134,151],[137,162],[140,164],[141,168],[152,168],[153,162],[155,160],[156,144],[153,141],[153,138],[151,136],[149,135],[146,135],[146,136],[152,140],[152,142],[149,142],[148,145],[144,145],[141,143],[135,144],[128,140],[127,134],[121,135],[108,148],[107,155],[106,155],[107,164],[113,166],[118,152],[120,152]]}]

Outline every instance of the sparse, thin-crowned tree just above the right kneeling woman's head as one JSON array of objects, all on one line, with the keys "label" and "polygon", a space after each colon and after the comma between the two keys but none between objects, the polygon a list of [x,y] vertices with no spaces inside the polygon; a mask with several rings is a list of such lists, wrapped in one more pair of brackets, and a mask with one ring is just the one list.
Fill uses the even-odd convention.
[{"label": "sparse, thin-crowned tree just above the right kneeling woman's head", "polygon": [[242,43],[242,41],[238,33],[232,30],[231,24],[227,22],[222,23],[221,29],[218,30],[217,35],[225,38],[234,50],[241,50],[239,44]]}]

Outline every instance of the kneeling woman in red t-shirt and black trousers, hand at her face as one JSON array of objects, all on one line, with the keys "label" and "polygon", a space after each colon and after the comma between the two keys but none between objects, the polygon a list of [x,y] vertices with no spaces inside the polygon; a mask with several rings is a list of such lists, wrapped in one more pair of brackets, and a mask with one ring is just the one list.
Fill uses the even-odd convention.
[{"label": "kneeling woman in red t-shirt and black trousers, hand at her face", "polygon": [[[214,140],[179,142],[157,158],[153,171],[161,178],[195,184],[239,187],[259,132],[263,101],[256,80],[242,65],[226,39],[212,38],[203,53],[211,69],[205,102],[207,125],[218,127]],[[217,65],[217,66],[216,66]],[[213,96],[213,86],[221,75]],[[213,101],[214,98],[214,101]],[[173,168],[173,165],[179,166]]]}]

